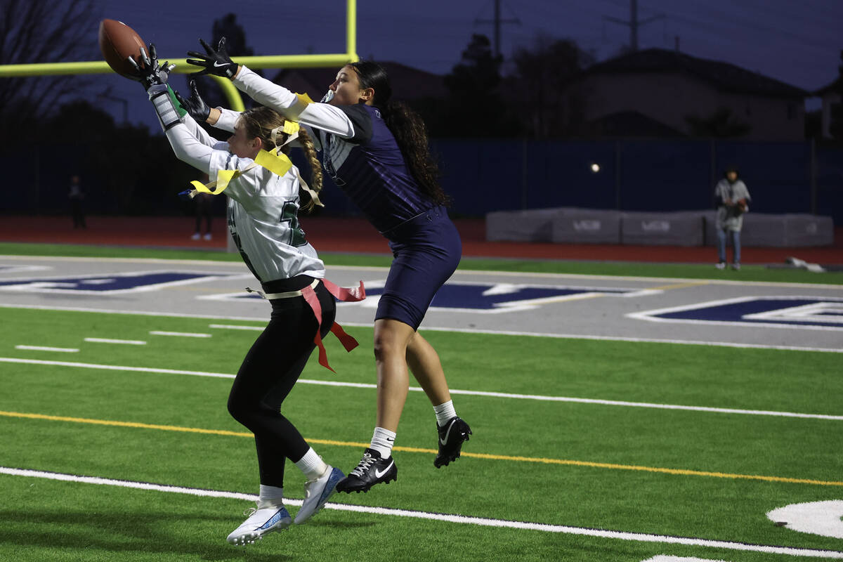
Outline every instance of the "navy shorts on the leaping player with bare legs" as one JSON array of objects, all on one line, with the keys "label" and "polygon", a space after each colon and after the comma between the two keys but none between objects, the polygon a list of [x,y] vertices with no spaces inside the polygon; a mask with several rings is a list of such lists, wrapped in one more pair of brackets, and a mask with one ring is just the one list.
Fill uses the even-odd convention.
[{"label": "navy shorts on the leaping player with bare legs", "polygon": [[392,318],[418,329],[433,295],[459,265],[463,244],[443,206],[384,233],[395,256],[375,319]]}]

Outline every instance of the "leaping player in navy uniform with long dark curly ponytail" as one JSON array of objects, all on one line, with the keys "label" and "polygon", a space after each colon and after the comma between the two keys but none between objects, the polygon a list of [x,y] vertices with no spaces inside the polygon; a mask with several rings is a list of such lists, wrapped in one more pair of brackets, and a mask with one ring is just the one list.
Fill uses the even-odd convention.
[{"label": "leaping player in navy uniform with long dark curly ponytail", "polygon": [[367,491],[396,479],[392,447],[409,389],[408,367],[436,415],[434,465],[459,458],[470,427],[456,415],[437,352],[416,332],[462,254],[424,123],[404,104],[390,100],[389,79],[375,62],[342,67],[323,103],[309,103],[233,62],[224,38],[216,49],[205,41],[201,45],[205,53],[189,51],[193,58],[187,61],[201,67],[199,73],[230,78],[250,98],[313,131],[323,167],[389,240],[395,257],[374,322],[376,427],[357,468],[337,490]]}]

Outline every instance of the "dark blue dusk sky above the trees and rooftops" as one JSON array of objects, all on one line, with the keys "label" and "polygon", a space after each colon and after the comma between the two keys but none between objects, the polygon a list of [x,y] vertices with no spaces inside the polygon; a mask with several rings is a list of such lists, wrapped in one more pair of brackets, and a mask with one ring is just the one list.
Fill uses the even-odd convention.
[{"label": "dark blue dusk sky above the trees and rooftops", "polygon": [[[346,3],[278,0],[96,0],[101,17],[120,19],[162,58],[183,57],[211,38],[213,20],[234,12],[256,55],[336,53],[345,49]],[[674,49],[692,56],[731,62],[799,88],[813,90],[837,76],[843,49],[841,0],[639,0],[639,48]],[[445,74],[459,62],[472,34],[492,36],[493,0],[358,0],[357,53],[379,61],[402,62]],[[629,0],[509,0],[502,18],[502,54],[533,44],[536,35],[575,40],[599,61],[629,42],[629,28],[604,17],[628,20]],[[93,29],[92,33],[96,33]],[[182,88],[184,78],[175,79]],[[154,122],[136,84],[116,75],[97,83],[130,99],[132,122]],[[325,84],[327,87],[327,83]],[[400,93],[397,93],[400,95]],[[113,105],[113,107],[112,107]],[[104,108],[121,118],[121,105]],[[809,104],[811,107],[811,104]]]}]

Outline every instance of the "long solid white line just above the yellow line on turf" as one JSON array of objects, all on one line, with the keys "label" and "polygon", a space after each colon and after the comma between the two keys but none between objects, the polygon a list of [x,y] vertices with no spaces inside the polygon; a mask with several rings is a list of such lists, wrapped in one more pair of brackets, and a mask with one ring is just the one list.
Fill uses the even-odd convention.
[{"label": "long solid white line just above the yellow line on turf", "polygon": [[[157,367],[127,367],[121,365],[102,365],[98,363],[80,363],[72,361],[47,361],[40,359],[21,359],[17,357],[0,357],[0,362],[5,363],[24,363],[29,365],[51,365],[55,367],[77,367],[86,369],[100,369],[105,371],[123,371],[123,372],[153,372],[171,375],[192,375],[195,377],[215,377],[215,378],[234,378],[233,374],[224,372],[203,372],[203,371],[185,371],[180,369],[161,369]],[[300,378],[298,383],[315,384],[329,387],[346,387],[346,388],[377,388],[376,385],[370,383],[345,383],[341,381],[321,381],[311,378]],[[423,392],[419,387],[410,387],[414,392]],[[521,399],[521,400],[540,400],[545,402],[570,402],[575,404],[595,404],[602,406],[620,406],[626,408],[652,408],[652,409],[675,409],[693,412],[706,412],[710,414],[738,414],[738,415],[766,415],[774,417],[785,418],[803,418],[812,420],[833,420],[843,421],[843,415],[825,415],[825,414],[803,414],[799,412],[781,412],[764,409],[733,409],[733,408],[714,408],[709,406],[687,406],[682,404],[656,404],[650,402],[626,402],[622,400],[604,400],[604,399],[586,399],[586,398],[572,398],[567,396],[545,396],[541,394],[517,394],[517,393],[499,393],[486,392],[483,390],[459,390],[451,389],[452,394],[464,394],[469,396],[483,396],[487,398],[502,398],[502,399]]]}]

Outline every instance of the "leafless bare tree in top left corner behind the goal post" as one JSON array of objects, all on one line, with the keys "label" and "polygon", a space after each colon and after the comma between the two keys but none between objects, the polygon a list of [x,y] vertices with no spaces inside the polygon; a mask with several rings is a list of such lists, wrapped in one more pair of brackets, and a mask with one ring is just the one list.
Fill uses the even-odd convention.
[{"label": "leafless bare tree in top left corner behind the goal post", "polygon": [[[0,0],[0,64],[97,60],[94,0]],[[78,75],[0,78],[0,130],[26,131],[89,84]]]}]

